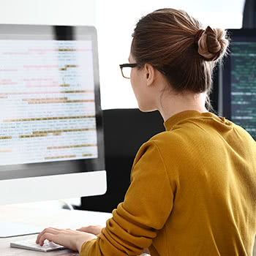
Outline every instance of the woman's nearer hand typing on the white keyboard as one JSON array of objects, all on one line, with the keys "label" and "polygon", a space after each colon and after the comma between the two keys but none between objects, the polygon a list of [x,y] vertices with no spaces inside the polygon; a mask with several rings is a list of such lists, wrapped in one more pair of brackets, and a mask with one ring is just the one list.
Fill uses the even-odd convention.
[{"label": "woman's nearer hand typing on the white keyboard", "polygon": [[37,236],[37,244],[41,246],[44,244],[45,239],[53,241],[56,244],[61,244],[73,251],[80,252],[84,242],[97,238],[92,233],[80,232],[78,230],[61,230],[58,228],[48,227],[42,230]]}]

